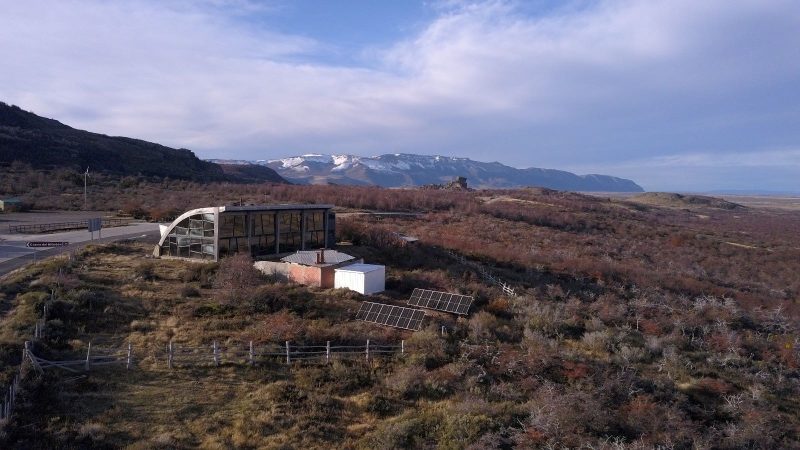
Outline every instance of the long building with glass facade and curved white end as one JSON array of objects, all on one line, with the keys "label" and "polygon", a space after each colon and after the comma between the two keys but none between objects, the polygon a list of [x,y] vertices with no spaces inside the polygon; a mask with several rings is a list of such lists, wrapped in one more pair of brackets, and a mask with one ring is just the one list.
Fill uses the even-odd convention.
[{"label": "long building with glass facade and curved white end", "polygon": [[249,252],[254,258],[336,243],[333,205],[215,206],[183,213],[162,226],[153,254],[217,261]]}]

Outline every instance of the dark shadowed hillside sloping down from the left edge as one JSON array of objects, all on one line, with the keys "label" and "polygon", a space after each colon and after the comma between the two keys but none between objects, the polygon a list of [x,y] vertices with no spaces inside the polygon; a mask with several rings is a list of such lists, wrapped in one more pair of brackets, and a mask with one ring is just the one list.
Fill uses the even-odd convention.
[{"label": "dark shadowed hillside sloping down from the left edge", "polygon": [[[239,173],[203,161],[187,149],[173,149],[127,137],[77,130],[0,102],[0,166],[14,162],[36,170],[90,168],[95,173],[194,181],[243,181]],[[247,181],[285,182],[264,168]]]}]

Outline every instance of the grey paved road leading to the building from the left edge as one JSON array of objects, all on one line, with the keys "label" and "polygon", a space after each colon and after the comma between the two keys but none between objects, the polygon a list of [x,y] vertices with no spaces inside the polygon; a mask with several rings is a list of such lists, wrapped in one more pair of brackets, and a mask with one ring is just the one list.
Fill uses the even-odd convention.
[{"label": "grey paved road leading to the building from the left edge", "polygon": [[[102,238],[100,234],[102,233]],[[142,238],[154,244],[159,237],[157,223],[137,223],[113,227],[92,234],[86,230],[48,234],[0,234],[0,276],[36,260],[73,251],[87,244],[105,243],[123,239]],[[38,242],[69,242],[65,247],[28,248],[26,244]]]}]

